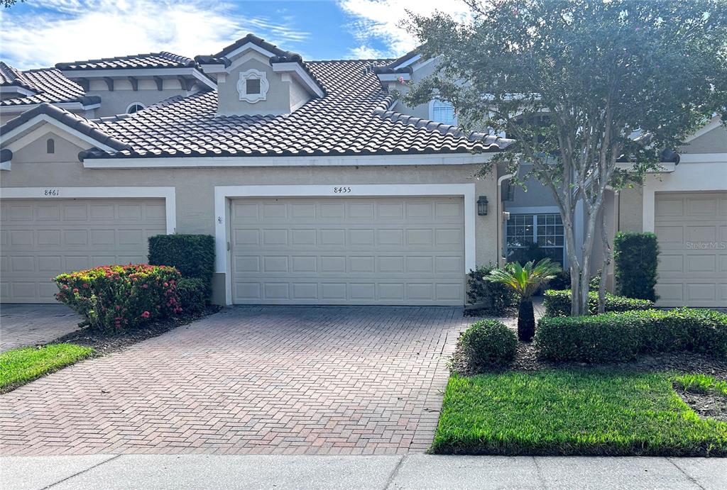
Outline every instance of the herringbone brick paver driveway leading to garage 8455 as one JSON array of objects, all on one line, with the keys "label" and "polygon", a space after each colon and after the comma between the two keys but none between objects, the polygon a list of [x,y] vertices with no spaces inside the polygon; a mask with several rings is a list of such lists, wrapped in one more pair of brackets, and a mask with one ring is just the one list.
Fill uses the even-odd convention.
[{"label": "herringbone brick paver driveway leading to garage 8455", "polygon": [[461,309],[238,307],[0,396],[0,453],[423,451]]}]

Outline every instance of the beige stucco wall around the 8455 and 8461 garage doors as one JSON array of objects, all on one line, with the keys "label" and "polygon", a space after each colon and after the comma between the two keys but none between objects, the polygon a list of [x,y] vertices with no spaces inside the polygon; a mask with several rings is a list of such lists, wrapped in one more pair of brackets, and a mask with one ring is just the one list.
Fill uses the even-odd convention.
[{"label": "beige stucco wall around the 8455 and 8461 garage doors", "polygon": [[[215,231],[214,187],[219,185],[285,184],[401,184],[406,195],[409,184],[475,183],[475,196],[489,197],[488,216],[475,217],[475,258],[477,264],[497,261],[497,179],[473,179],[477,165],[458,166],[300,166],[248,168],[184,169],[88,169],[78,161],[81,150],[75,144],[57,144],[55,157],[45,154],[45,139],[17,150],[12,171],[2,173],[1,187],[105,187],[173,186],[176,189],[177,232],[213,234]],[[50,160],[50,161],[49,161]],[[476,197],[475,197],[476,198]],[[224,277],[215,279],[215,298],[223,298],[220,286]]]}]

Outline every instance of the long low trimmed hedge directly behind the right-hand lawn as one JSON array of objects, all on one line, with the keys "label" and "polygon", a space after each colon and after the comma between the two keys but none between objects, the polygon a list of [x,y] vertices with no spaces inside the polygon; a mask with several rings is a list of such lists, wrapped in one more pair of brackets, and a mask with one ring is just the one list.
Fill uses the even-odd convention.
[{"label": "long low trimmed hedge directly behind the right-hand lawn", "polygon": [[683,308],[543,317],[535,346],[540,356],[555,362],[619,362],[668,351],[727,359],[727,314]]}]

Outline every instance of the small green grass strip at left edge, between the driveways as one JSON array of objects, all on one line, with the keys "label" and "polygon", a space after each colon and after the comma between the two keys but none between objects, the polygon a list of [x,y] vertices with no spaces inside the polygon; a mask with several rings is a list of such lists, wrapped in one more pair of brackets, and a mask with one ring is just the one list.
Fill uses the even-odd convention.
[{"label": "small green grass strip at left edge, between the driveways", "polygon": [[90,347],[55,343],[41,348],[22,347],[0,354],[0,392],[10,391],[38,377],[94,355]]}]

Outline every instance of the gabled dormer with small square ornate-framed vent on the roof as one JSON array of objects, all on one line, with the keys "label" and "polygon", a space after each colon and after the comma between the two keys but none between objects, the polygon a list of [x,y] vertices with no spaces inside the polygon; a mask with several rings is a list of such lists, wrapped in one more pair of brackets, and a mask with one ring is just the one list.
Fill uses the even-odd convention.
[{"label": "gabled dormer with small square ornate-framed vent on the roof", "polygon": [[252,34],[195,60],[217,80],[217,115],[289,114],[325,95],[300,54]]}]

